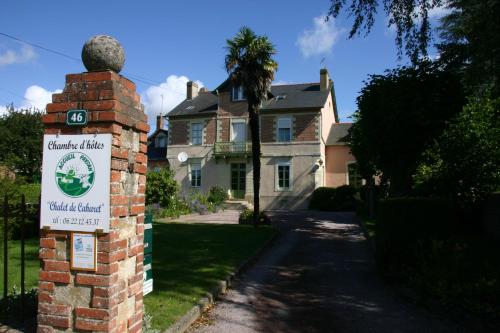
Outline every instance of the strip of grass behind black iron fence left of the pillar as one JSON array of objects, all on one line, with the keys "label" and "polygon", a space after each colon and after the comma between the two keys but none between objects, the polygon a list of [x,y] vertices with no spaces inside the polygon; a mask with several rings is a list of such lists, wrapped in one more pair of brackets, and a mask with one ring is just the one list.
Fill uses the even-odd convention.
[{"label": "strip of grass behind black iron fence left of the pillar", "polygon": [[[38,260],[38,238],[30,238],[26,240],[25,259],[26,259],[26,290],[38,287],[38,269],[40,267]],[[8,247],[8,289],[9,293],[15,288],[21,290],[21,241],[9,241]],[[0,244],[0,298],[3,297],[3,240]]]}]

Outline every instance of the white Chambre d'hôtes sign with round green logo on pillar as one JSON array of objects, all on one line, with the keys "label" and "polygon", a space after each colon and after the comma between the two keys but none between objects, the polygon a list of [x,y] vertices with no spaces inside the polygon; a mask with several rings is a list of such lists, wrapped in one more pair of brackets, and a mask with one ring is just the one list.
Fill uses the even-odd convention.
[{"label": "white Chambre d'h\u00f4tes sign with round green logo on pillar", "polygon": [[109,232],[111,134],[43,137],[40,228]]}]

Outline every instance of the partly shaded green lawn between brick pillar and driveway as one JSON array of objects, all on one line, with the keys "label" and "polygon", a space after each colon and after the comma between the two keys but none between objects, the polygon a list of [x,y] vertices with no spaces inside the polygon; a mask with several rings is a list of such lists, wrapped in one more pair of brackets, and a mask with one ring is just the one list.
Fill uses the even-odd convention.
[{"label": "partly shaded green lawn between brick pillar and driveway", "polygon": [[266,226],[155,223],[154,290],[144,298],[152,327],[174,323],[275,233]]}]

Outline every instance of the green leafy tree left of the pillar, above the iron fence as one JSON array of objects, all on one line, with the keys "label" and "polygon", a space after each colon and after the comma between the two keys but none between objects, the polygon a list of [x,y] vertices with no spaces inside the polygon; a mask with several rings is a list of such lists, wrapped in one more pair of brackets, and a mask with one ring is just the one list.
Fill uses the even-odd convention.
[{"label": "green leafy tree left of the pillar, above the iron fence", "polygon": [[0,161],[27,182],[40,181],[42,162],[42,113],[35,109],[14,110],[0,116]]}]

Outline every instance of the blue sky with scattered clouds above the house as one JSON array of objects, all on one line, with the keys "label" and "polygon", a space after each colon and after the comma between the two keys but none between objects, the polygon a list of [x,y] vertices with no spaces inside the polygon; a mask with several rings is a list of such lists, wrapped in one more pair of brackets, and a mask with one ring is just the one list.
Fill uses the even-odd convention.
[{"label": "blue sky with scattered clouds above the house", "polygon": [[[154,130],[156,115],[186,97],[187,81],[212,90],[227,78],[226,40],[248,26],[275,45],[275,84],[319,82],[326,67],[340,120],[349,122],[369,75],[408,61],[398,59],[394,29],[382,11],[369,35],[348,39],[352,20],[344,15],[325,22],[328,7],[328,0],[2,0],[0,113],[11,103],[44,109],[64,88],[66,74],[85,71],[84,43],[106,34],[124,48],[120,74],[137,84]],[[437,9],[430,16],[435,23],[445,13]]]}]

